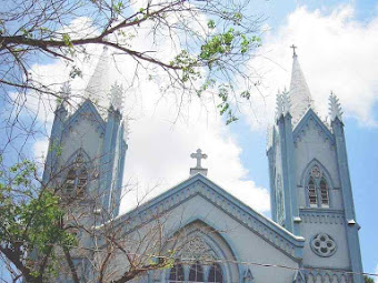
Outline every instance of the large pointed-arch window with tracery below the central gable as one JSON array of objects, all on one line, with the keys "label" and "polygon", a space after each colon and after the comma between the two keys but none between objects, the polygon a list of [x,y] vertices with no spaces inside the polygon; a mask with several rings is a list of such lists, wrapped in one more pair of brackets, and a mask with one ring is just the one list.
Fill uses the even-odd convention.
[{"label": "large pointed-arch window with tracery below the central gable", "polygon": [[176,241],[165,249],[176,251],[175,257],[180,260],[163,272],[165,282],[239,282],[237,259],[215,228],[197,220],[181,228],[173,237]]}]

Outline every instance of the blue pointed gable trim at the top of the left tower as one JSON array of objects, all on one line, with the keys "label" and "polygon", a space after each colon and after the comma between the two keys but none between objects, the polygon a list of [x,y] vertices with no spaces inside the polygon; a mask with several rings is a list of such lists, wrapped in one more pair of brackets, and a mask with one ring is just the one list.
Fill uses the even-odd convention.
[{"label": "blue pointed gable trim at the top of the left tower", "polygon": [[98,130],[101,130],[101,132],[105,132],[105,121],[97,111],[93,103],[88,99],[80,105],[80,108],[71,117],[68,118],[68,120],[64,123],[64,130],[69,130],[71,127],[79,123],[79,121],[82,119],[94,124],[98,128]]}]

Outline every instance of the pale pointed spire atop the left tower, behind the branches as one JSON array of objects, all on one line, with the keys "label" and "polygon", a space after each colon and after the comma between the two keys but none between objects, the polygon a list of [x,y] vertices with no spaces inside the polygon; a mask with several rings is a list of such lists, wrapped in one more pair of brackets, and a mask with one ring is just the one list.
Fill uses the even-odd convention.
[{"label": "pale pointed spire atop the left tower, behind the branches", "polygon": [[100,112],[109,107],[109,61],[108,48],[105,47],[86,89],[86,98],[99,107]]}]

